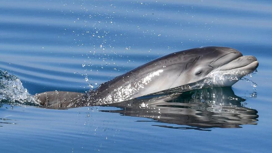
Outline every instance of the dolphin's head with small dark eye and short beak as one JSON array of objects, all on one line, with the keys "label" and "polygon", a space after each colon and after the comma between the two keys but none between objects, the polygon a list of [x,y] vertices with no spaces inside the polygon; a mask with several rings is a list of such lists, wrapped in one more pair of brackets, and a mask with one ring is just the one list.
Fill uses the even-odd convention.
[{"label": "dolphin's head with small dark eye and short beak", "polygon": [[[209,46],[185,50],[182,63],[184,71],[180,84],[204,79],[211,87],[230,87],[243,76],[252,73],[258,66],[253,56],[243,56],[229,47]],[[176,86],[174,84],[173,86]]]}]

